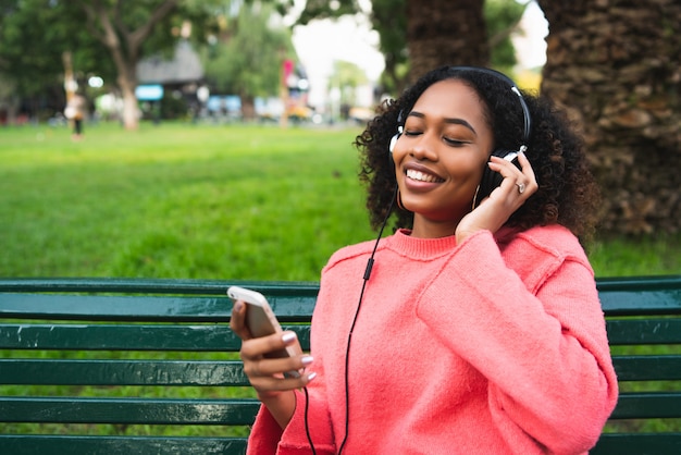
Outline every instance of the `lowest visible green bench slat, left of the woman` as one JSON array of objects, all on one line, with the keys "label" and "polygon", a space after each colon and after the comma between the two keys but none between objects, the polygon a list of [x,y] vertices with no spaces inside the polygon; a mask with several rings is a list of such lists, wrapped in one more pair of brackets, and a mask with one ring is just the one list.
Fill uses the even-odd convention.
[{"label": "lowest visible green bench slat, left of the woman", "polygon": [[246,453],[244,438],[0,435],[0,453],[12,455],[203,455]]}]

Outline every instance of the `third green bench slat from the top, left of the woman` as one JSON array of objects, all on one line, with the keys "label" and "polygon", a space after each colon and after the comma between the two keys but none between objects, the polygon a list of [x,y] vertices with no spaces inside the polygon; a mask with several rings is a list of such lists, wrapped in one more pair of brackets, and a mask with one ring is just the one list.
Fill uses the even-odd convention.
[{"label": "third green bench slat from the top, left of the woman", "polygon": [[[284,325],[309,347],[309,325]],[[238,352],[240,340],[222,324],[0,323],[0,349]]]}]

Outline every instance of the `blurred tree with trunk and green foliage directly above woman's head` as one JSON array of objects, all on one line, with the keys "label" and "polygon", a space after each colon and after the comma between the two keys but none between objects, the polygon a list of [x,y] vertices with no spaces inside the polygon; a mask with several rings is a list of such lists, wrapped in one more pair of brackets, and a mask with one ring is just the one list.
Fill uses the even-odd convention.
[{"label": "blurred tree with trunk and green foliage directly above woman's head", "polygon": [[[345,14],[367,14],[381,37],[385,58],[384,90],[400,93],[409,81],[443,64],[492,65],[508,71],[516,63],[511,33],[524,3],[508,0],[307,0],[299,24]],[[294,10],[296,0],[281,3]]]}]

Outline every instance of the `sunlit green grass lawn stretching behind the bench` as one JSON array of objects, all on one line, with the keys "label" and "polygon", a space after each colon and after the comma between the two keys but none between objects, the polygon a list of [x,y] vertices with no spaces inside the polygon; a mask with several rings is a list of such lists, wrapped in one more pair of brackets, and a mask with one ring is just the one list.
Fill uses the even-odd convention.
[{"label": "sunlit green grass lawn stretching behind the bench", "polygon": [[[311,280],[371,238],[359,127],[0,130],[0,275]],[[681,236],[599,241],[597,275],[681,273]]]}]

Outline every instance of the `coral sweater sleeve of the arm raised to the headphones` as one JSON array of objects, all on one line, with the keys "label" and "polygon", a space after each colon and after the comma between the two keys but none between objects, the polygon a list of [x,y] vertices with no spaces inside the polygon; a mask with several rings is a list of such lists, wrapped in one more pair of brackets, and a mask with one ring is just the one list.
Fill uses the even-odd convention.
[{"label": "coral sweater sleeve of the arm raised to the headphones", "polygon": [[492,234],[475,234],[426,286],[417,315],[487,378],[490,410],[510,446],[530,436],[549,453],[584,453],[618,394],[595,281],[585,258],[534,256],[544,278],[529,288]]}]

